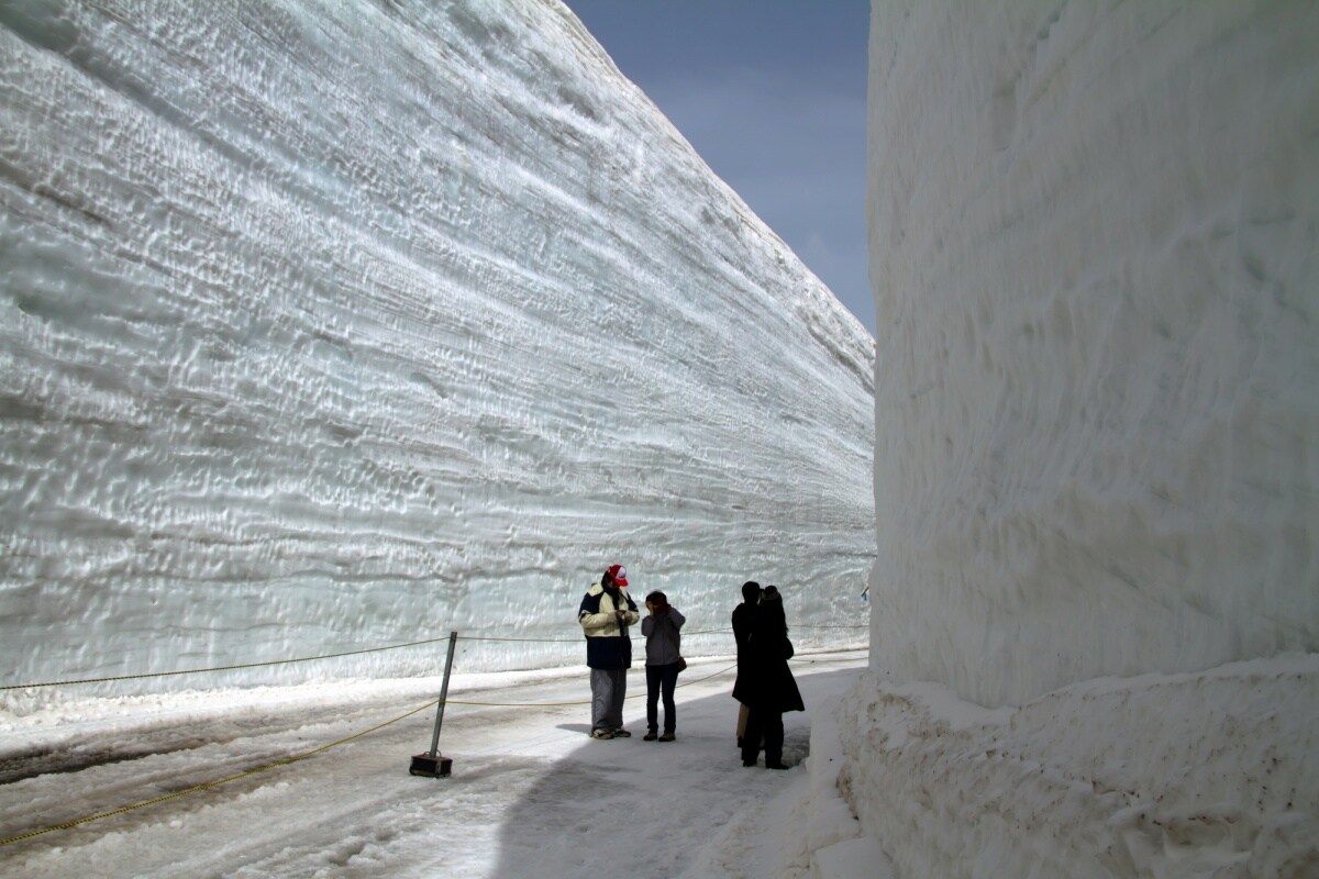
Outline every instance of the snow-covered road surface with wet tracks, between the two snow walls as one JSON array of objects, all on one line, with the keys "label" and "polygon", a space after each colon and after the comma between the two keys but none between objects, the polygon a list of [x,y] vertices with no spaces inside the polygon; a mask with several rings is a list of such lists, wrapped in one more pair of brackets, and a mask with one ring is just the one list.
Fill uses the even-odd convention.
[{"label": "snow-covered road surface with wet tracks, between the two snow walls", "polygon": [[[811,723],[865,651],[801,656],[807,712],[789,714],[794,768],[744,768],[732,659],[692,662],[678,741],[595,742],[584,668],[455,673],[441,752],[448,779],[410,776],[430,745],[438,679],[306,684],[65,702],[0,716],[0,839],[187,791],[417,713],[291,764],[0,846],[5,876],[807,875]],[[534,705],[534,706],[533,706]],[[425,706],[425,708],[423,708]],[[832,760],[836,745],[828,746]],[[826,772],[827,775],[827,772]],[[835,797],[836,799],[836,797]],[[853,821],[842,801],[828,820]],[[856,834],[840,828],[840,839]],[[852,841],[865,850],[867,841]],[[844,865],[845,849],[834,854]],[[816,874],[818,875],[818,874]]]}]

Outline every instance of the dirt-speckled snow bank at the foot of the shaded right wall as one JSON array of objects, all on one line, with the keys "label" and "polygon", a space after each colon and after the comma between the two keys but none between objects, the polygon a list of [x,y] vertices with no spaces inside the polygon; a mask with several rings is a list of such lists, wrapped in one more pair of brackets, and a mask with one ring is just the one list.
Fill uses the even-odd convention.
[{"label": "dirt-speckled snow bank at the foot of the shaded right wall", "polygon": [[860,733],[839,784],[898,875],[1319,871],[1319,656],[1096,679],[996,710],[871,672],[840,712]]}]

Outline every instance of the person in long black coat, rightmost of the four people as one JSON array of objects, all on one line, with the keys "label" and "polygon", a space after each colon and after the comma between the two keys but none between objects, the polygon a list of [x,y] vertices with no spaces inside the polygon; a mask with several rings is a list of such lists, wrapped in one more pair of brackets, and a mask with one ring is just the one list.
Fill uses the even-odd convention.
[{"label": "person in long black coat, rightmost of the four people", "polygon": [[791,655],[782,596],[777,588],[765,586],[752,615],[743,664],[733,685],[733,697],[751,708],[743,734],[743,766],[756,766],[757,746],[764,735],[765,768],[787,768],[783,766],[783,712],[806,710],[793,672],[787,668]]}]

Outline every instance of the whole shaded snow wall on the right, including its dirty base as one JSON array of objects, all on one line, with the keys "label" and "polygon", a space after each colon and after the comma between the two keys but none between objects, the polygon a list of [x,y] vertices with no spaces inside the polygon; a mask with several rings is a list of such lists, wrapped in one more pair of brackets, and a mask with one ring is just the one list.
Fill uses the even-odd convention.
[{"label": "whole shaded snow wall on the right, including its dirty base", "polygon": [[813,772],[896,875],[1319,875],[1315,46],[872,4],[872,671]]}]

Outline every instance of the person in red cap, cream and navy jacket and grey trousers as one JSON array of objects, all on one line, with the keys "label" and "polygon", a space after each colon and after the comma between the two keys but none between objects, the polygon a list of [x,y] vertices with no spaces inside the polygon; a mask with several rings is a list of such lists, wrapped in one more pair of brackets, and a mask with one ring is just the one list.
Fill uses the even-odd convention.
[{"label": "person in red cap, cream and navy jacket and grey trousers", "polygon": [[578,609],[578,622],[586,633],[586,664],[591,667],[591,738],[632,735],[623,729],[623,698],[632,668],[628,626],[641,614],[623,592],[627,585],[628,569],[609,565],[600,582],[591,584]]}]

